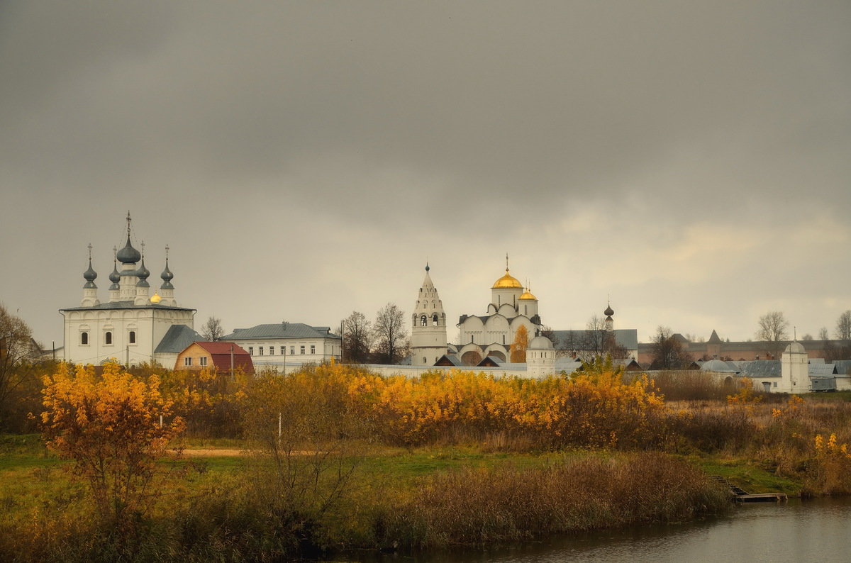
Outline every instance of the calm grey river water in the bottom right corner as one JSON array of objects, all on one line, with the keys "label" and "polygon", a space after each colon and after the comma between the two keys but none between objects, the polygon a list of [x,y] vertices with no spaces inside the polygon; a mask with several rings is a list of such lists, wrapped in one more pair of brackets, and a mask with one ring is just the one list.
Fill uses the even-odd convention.
[{"label": "calm grey river water in the bottom right corner", "polygon": [[731,515],[717,519],[551,537],[539,543],[505,549],[414,556],[381,554],[349,560],[363,563],[848,563],[851,561],[851,498],[740,504]]}]

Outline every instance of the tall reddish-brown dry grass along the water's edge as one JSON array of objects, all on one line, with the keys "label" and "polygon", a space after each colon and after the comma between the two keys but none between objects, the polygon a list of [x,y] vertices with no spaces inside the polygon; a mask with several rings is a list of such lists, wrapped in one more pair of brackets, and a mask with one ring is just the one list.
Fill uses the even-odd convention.
[{"label": "tall reddish-brown dry grass along the water's edge", "polygon": [[486,545],[540,536],[688,520],[728,509],[728,492],[660,453],[581,454],[542,469],[461,469],[432,476],[380,520],[391,547]]}]

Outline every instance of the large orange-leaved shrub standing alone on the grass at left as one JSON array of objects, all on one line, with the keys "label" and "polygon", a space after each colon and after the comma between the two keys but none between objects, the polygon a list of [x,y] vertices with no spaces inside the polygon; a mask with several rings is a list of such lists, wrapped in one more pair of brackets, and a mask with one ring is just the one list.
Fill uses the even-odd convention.
[{"label": "large orange-leaved shrub standing alone on the grass at left", "polygon": [[155,463],[184,427],[157,376],[140,381],[110,363],[99,378],[91,366],[72,373],[63,364],[44,378],[43,405],[44,441],[74,461],[106,522],[124,528],[150,508]]}]

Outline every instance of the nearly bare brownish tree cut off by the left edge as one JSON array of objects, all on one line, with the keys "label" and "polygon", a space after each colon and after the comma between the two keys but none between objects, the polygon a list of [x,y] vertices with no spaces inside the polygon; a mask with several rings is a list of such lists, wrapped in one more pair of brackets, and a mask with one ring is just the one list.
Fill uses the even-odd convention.
[{"label": "nearly bare brownish tree cut off by the left edge", "polygon": [[5,422],[10,395],[25,383],[21,368],[34,360],[37,352],[30,327],[0,304],[0,426]]}]

